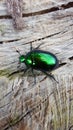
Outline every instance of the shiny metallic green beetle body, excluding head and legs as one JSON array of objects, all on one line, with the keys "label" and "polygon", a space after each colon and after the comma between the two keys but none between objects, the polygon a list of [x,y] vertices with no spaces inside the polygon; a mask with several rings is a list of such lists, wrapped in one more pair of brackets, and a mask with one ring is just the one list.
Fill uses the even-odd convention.
[{"label": "shiny metallic green beetle body, excluding head and legs", "polygon": [[37,70],[51,71],[58,66],[58,59],[50,52],[33,50],[26,55],[26,65]]}]

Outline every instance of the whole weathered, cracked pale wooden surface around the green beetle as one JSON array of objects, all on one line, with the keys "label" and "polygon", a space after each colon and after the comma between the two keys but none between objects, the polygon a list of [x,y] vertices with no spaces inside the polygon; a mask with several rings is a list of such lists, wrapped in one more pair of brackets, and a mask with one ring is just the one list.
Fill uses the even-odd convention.
[{"label": "whole weathered, cracked pale wooden surface around the green beetle", "polygon": [[[73,0],[24,0],[23,22],[16,30],[0,0],[0,130],[72,130]],[[27,54],[30,43],[58,57],[52,73],[59,84],[35,72],[33,85],[30,72],[21,73],[16,49]]]}]

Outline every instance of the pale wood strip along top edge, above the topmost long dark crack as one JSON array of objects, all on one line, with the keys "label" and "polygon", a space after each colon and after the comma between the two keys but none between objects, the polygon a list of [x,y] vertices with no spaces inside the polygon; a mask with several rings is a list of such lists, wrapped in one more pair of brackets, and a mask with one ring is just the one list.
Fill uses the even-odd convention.
[{"label": "pale wood strip along top edge, above the topmost long dark crack", "polygon": [[[64,6],[68,8],[68,5],[73,7],[72,0],[23,0],[23,14],[29,14],[39,12],[46,9],[63,9]],[[57,7],[57,8],[56,8]],[[6,0],[0,0],[0,16],[8,16]]]}]

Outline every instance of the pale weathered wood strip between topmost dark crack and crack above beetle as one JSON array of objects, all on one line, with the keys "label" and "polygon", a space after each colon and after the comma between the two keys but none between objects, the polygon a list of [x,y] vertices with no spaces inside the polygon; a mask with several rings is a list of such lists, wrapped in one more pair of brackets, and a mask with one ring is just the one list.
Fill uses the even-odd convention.
[{"label": "pale weathered wood strip between topmost dark crack and crack above beetle", "polygon": [[[60,12],[53,12],[49,15],[43,14],[40,16],[24,18],[25,28],[19,32],[14,30],[11,20],[0,20],[0,39],[1,41],[9,41],[31,38],[32,41],[34,41],[36,39],[46,37],[54,33],[59,33],[67,30],[68,28],[71,28],[71,25],[73,23],[72,16],[73,8],[70,8],[67,10],[62,10]],[[27,40],[25,42],[27,42]]]}]

